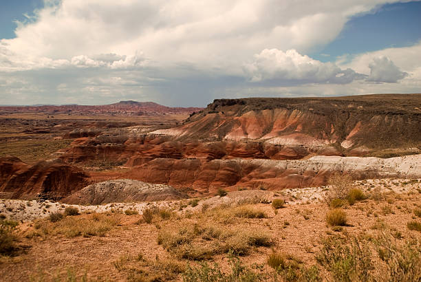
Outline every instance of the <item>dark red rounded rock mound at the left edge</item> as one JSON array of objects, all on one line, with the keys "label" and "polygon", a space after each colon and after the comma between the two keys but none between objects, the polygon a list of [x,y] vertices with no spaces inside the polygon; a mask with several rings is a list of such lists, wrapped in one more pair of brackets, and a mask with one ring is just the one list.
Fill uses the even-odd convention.
[{"label": "dark red rounded rock mound at the left edge", "polygon": [[0,158],[0,195],[11,199],[61,199],[88,183],[88,175],[61,160],[33,166],[18,158]]}]

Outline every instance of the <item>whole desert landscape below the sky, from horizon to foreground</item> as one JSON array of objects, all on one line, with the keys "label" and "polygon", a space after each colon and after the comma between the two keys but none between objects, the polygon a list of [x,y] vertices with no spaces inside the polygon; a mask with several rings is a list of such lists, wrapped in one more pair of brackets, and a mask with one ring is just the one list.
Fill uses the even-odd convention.
[{"label": "whole desert landscape below the sky, from horizon to foreground", "polygon": [[0,107],[2,281],[420,281],[421,94]]}]

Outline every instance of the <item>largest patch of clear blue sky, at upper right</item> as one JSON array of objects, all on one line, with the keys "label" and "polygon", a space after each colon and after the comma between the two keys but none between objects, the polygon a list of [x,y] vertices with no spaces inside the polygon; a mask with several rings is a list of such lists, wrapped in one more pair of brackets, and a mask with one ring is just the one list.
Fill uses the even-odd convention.
[{"label": "largest patch of clear blue sky, at upper right", "polygon": [[352,17],[332,43],[311,55],[320,61],[334,61],[343,54],[411,46],[421,39],[420,27],[421,2],[385,5],[376,12]]}]

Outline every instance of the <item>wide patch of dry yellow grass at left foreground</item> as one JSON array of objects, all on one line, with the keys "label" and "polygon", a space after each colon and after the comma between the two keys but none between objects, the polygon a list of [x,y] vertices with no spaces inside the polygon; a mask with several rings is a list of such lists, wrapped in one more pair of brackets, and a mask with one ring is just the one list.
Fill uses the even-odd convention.
[{"label": "wide patch of dry yellow grass at left foreground", "polygon": [[64,235],[66,237],[105,236],[107,231],[120,223],[118,215],[91,214],[87,217],[65,217],[60,221],[39,220],[34,227],[45,235]]}]

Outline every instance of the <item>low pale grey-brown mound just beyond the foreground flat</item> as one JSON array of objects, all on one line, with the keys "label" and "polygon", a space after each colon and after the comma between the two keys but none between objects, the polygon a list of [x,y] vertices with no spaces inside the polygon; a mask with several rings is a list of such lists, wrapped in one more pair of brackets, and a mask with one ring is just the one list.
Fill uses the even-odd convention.
[{"label": "low pale grey-brown mound just beyond the foreground flat", "polygon": [[186,197],[186,194],[171,186],[126,179],[91,184],[63,199],[63,202],[98,205],[112,202],[169,201]]}]

